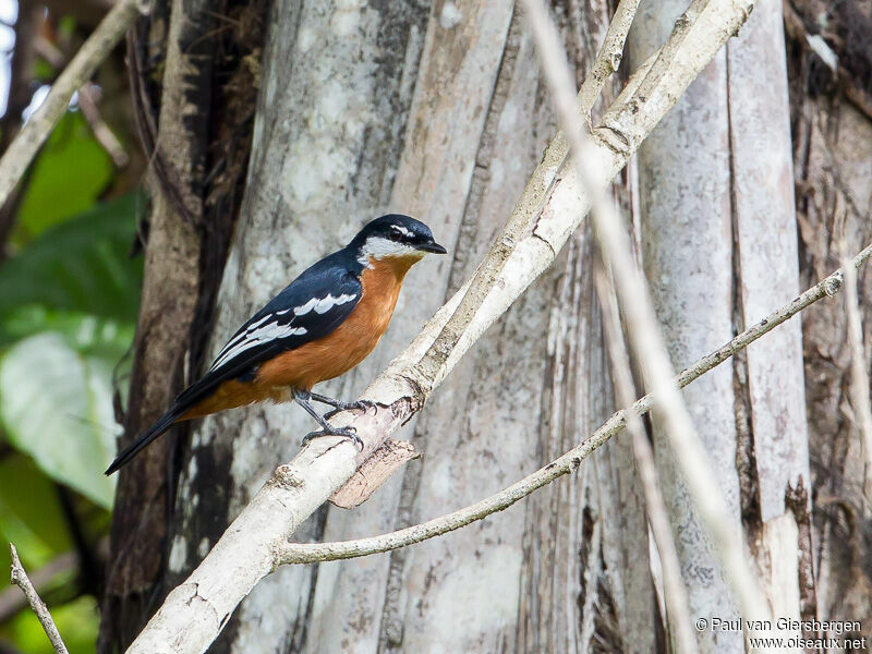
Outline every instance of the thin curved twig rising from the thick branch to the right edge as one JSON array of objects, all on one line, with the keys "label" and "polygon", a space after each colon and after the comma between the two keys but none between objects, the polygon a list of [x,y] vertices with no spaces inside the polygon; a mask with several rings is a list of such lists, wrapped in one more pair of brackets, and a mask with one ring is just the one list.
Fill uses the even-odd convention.
[{"label": "thin curved twig rising from the thick branch to the right edge", "polygon": [[[869,244],[853,257],[851,262],[853,269],[862,266],[871,255],[872,244]],[[841,289],[841,276],[843,269],[839,269],[828,277],[825,277],[792,302],[774,311],[755,325],[736,336],[729,342],[681,371],[676,375],[673,383],[683,388],[819,300],[832,298]],[[644,415],[651,411],[656,402],[657,398],[655,398],[654,393],[649,393],[640,400],[637,400],[631,408],[616,411],[598,429],[585,438],[581,445],[572,448],[560,458],[540,468],[536,472],[525,476],[508,488],[482,499],[481,501],[451,513],[427,520],[421,524],[378,536],[358,538],[354,541],[339,541],[336,543],[282,543],[276,549],[275,566],[282,564],[332,561],[390,552],[392,549],[405,547],[407,545],[421,543],[434,536],[446,534],[471,524],[476,520],[486,518],[491,513],[507,509],[537,488],[550,484],[565,474],[576,472],[584,459],[590,457],[591,453],[606,444],[613,436],[619,434],[627,427],[629,415]]]}]

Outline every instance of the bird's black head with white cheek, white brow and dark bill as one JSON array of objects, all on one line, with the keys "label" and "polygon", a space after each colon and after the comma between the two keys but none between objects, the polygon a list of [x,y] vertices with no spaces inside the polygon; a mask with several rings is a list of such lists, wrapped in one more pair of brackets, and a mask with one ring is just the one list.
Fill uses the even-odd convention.
[{"label": "bird's black head with white cheek, white brow and dark bill", "polygon": [[433,232],[426,225],[401,214],[389,214],[367,222],[349,246],[376,258],[446,253],[445,247],[433,240]]}]

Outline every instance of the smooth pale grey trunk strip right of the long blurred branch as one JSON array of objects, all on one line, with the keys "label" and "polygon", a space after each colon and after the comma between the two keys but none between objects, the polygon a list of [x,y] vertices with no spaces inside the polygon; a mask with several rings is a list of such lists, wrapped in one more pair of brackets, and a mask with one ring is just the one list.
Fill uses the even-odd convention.
[{"label": "smooth pale grey trunk strip right of the long blurred branch", "polygon": [[[645,2],[630,31],[638,65],[663,43],[685,3]],[[639,152],[642,258],[673,363],[681,368],[731,336],[731,247],[726,55],[719,52]],[[699,190],[704,190],[702,193]],[[739,518],[732,375],[716,370],[685,390],[698,434]],[[715,400],[718,398],[718,400]],[[735,617],[665,435],[655,426],[664,499],[693,615]],[[741,633],[703,632],[703,651],[742,652]]]}]

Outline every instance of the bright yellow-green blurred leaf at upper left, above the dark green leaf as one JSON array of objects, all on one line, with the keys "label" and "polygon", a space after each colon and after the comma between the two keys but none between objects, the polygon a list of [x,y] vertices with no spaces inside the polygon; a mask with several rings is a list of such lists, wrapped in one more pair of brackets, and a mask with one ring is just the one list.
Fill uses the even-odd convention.
[{"label": "bright yellow-green blurred leaf at upper left, above the dark green leaf", "polygon": [[81,111],[68,111],[43,146],[16,217],[12,245],[90,207],[112,178],[112,161]]}]

